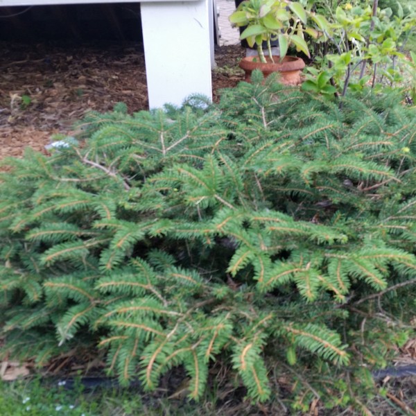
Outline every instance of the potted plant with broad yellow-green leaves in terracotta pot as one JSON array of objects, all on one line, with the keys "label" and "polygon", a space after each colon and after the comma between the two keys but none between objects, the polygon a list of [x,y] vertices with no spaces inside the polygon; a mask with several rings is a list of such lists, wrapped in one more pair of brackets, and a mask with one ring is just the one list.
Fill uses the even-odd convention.
[{"label": "potted plant with broad yellow-green leaves in terracotta pot", "polygon": [[[229,17],[236,26],[245,26],[241,40],[245,39],[252,48],[257,46],[258,56],[248,56],[241,60],[240,67],[245,71],[245,80],[250,80],[254,69],[260,69],[264,76],[272,72],[281,73],[281,82],[289,85],[300,84],[300,71],[305,63],[302,58],[287,56],[289,46],[309,55],[309,48],[304,40],[304,33],[314,39],[325,36],[329,26],[327,20],[306,10],[301,3],[288,0],[245,0]],[[308,26],[313,22],[314,26]],[[279,41],[279,56],[273,56],[271,42]],[[262,44],[266,42],[268,56]]]}]

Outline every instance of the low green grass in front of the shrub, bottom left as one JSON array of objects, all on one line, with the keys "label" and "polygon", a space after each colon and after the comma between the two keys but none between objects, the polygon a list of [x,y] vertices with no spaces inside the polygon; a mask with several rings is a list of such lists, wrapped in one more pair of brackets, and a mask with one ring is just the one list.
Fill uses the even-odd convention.
[{"label": "low green grass in front of the shrub, bottom left", "polygon": [[[189,403],[183,399],[158,398],[134,389],[103,388],[85,392],[78,383],[67,390],[58,381],[42,379],[0,381],[0,416],[225,416],[248,415],[252,406],[223,406],[214,401]],[[250,415],[257,413],[250,412]]]}]

